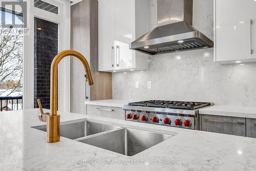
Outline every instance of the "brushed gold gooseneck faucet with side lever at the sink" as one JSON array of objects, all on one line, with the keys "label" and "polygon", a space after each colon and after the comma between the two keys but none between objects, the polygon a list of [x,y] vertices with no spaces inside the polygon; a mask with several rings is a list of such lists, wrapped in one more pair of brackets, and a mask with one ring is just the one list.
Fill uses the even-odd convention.
[{"label": "brushed gold gooseneck faucet with side lever at the sink", "polygon": [[83,64],[84,70],[86,71],[86,79],[88,80],[89,86],[93,84],[93,78],[90,71],[90,67],[87,59],[77,51],[66,50],[57,54],[51,65],[51,113],[44,113],[42,111],[41,102],[38,99],[38,105],[40,108],[41,114],[38,115],[39,120],[47,123],[47,142],[58,142],[59,141],[59,122],[60,115],[57,115],[57,78],[58,78],[58,64],[60,60],[66,56],[74,56],[80,59]]}]

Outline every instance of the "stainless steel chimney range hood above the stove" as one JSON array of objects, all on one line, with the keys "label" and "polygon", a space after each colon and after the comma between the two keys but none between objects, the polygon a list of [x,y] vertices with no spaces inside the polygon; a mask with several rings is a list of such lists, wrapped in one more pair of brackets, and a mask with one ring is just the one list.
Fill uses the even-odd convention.
[{"label": "stainless steel chimney range hood above the stove", "polygon": [[158,27],[130,44],[146,54],[210,48],[214,42],[192,27],[193,0],[158,0]]}]

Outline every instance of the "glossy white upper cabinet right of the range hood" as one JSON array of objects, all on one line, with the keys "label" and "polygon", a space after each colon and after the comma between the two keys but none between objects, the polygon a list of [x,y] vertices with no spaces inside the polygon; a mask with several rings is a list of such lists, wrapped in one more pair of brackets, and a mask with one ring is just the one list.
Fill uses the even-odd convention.
[{"label": "glossy white upper cabinet right of the range hood", "polygon": [[215,0],[215,61],[256,61],[256,1]]}]

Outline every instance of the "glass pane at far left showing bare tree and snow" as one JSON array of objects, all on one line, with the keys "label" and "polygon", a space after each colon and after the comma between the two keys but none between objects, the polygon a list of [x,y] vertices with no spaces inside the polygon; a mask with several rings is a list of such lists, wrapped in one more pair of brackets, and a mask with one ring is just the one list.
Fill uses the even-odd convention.
[{"label": "glass pane at far left showing bare tree and snow", "polygon": [[23,109],[23,14],[1,7],[0,111]]}]

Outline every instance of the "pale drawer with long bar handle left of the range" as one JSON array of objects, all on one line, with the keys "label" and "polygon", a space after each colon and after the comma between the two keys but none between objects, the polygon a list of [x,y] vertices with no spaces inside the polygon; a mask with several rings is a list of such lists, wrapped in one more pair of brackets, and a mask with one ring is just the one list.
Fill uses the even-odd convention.
[{"label": "pale drawer with long bar handle left of the range", "polygon": [[87,115],[101,116],[114,119],[125,119],[125,112],[122,108],[114,108],[100,105],[87,105]]}]

